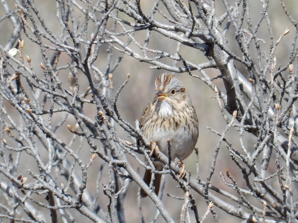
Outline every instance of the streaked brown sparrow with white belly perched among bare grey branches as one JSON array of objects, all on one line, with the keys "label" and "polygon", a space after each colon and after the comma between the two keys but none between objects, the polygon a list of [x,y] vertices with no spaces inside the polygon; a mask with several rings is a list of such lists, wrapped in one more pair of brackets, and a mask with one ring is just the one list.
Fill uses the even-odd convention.
[{"label": "streaked brown sparrow with white belly perched among bare grey branches", "polygon": [[[156,96],[145,107],[140,120],[144,136],[156,143],[159,151],[168,154],[167,139],[171,143],[171,159],[180,161],[193,151],[198,140],[198,117],[195,113],[190,95],[182,83],[172,74],[163,73],[155,83]],[[164,165],[160,161],[153,162],[156,170],[162,171]],[[159,192],[161,174],[155,174],[154,191]],[[146,169],[144,179],[150,184],[151,171]],[[146,197],[141,190],[141,196]]]}]

